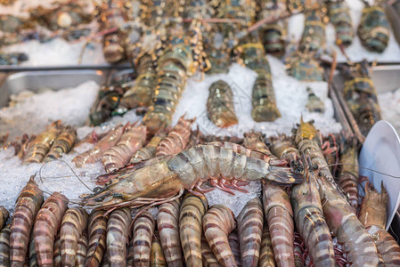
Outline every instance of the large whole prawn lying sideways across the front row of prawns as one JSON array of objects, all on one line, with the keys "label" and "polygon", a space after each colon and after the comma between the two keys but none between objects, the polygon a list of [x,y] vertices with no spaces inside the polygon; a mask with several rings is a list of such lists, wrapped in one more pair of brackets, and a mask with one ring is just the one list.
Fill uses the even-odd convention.
[{"label": "large whole prawn lying sideways across the front row of prawns", "polygon": [[[243,151],[237,153],[231,147]],[[228,190],[225,184],[241,190],[238,187],[247,181],[268,180],[285,185],[303,181],[302,175],[282,164],[286,161],[269,160],[263,153],[233,143],[200,144],[172,157],[155,158],[154,164],[139,169],[121,169],[114,173],[118,174],[118,181],[111,181],[101,190],[82,197],[81,205],[102,208],[132,206],[137,201],[142,202],[138,199],[142,197],[168,198],[182,194],[184,189],[197,187],[201,190],[199,186],[208,179],[223,190]],[[221,175],[224,179],[219,179]],[[112,176],[110,174],[108,178]]]}]

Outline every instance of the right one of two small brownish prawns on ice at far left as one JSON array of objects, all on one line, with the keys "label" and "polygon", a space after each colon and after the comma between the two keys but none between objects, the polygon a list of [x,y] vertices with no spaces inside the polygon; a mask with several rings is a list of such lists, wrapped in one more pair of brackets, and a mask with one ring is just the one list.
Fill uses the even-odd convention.
[{"label": "right one of two small brownish prawns on ice at far left", "polygon": [[61,134],[57,136],[52,147],[45,156],[44,162],[61,158],[63,154],[68,153],[77,141],[77,131],[71,126],[66,126],[61,130]]}]

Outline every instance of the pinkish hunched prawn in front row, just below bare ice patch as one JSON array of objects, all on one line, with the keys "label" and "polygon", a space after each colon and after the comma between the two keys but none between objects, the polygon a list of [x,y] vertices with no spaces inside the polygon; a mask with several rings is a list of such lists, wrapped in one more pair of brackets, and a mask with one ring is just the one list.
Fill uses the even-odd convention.
[{"label": "pinkish hunched prawn in front row, just below bare ice patch", "polygon": [[223,266],[237,266],[228,241],[228,234],[235,224],[232,210],[222,205],[211,206],[203,217],[204,236]]}]

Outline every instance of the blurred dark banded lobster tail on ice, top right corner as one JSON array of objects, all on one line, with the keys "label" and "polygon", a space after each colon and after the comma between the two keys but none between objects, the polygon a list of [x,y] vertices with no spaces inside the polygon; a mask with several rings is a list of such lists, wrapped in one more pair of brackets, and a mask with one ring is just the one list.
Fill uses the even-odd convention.
[{"label": "blurred dark banded lobster tail on ice, top right corner", "polygon": [[363,8],[357,35],[366,50],[383,53],[388,47],[390,37],[390,27],[385,10],[377,5]]}]

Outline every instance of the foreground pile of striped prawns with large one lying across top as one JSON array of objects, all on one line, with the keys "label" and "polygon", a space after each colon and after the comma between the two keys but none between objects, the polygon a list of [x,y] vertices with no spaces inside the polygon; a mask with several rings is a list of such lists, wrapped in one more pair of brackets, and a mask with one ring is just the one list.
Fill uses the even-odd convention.
[{"label": "foreground pile of striped prawns with large one lying across top", "polygon": [[[169,134],[136,136],[143,143],[150,139],[152,145],[159,140],[148,153],[140,153],[151,154],[150,158],[141,161],[136,155],[134,163],[126,159],[126,166],[99,176],[102,187],[82,196],[79,203],[61,192],[45,199],[32,176],[11,220],[0,207],[0,263],[400,263],[400,247],[385,231],[388,195],[383,185],[378,193],[366,183],[359,205],[362,197],[355,191],[359,181],[354,168],[358,147],[353,139],[344,134],[323,138],[312,123],[303,121],[292,137],[266,141],[255,132],[243,139],[203,136],[191,125],[192,120],[183,117]],[[336,161],[347,165],[330,170],[328,162]],[[227,206],[208,206],[204,192],[234,194],[246,191],[242,186],[249,181],[262,182],[261,197],[249,200],[236,217]]]}]

